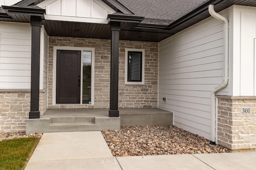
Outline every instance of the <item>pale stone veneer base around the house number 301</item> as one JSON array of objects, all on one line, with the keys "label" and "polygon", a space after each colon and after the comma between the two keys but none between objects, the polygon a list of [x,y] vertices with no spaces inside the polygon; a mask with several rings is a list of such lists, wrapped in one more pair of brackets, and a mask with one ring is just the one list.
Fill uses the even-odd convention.
[{"label": "pale stone veneer base around the house number 301", "polygon": [[[218,144],[228,149],[256,149],[256,97],[217,96]],[[251,114],[240,114],[250,107]]]}]

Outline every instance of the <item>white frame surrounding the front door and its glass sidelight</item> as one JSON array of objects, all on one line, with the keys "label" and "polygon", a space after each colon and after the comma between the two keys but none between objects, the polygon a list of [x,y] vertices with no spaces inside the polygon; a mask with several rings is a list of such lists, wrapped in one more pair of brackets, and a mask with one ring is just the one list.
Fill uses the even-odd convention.
[{"label": "white frame surrounding the front door and its glass sidelight", "polygon": [[[56,66],[57,66],[57,50],[76,50],[81,51],[81,75],[83,74],[83,51],[92,51],[92,82],[91,82],[91,104],[88,105],[94,105],[94,55],[95,55],[95,49],[94,48],[81,48],[81,47],[59,47],[54,46],[53,47],[53,78],[52,78],[52,105],[62,105],[62,104],[56,104]],[[83,76],[81,76],[82,78]],[[82,87],[83,80],[80,81],[80,86]],[[80,91],[80,104],[83,104],[82,101],[82,90]],[[72,105],[80,105],[80,104],[72,104]],[[66,105],[66,104],[65,104]],[[83,104],[84,105],[84,104]]]}]

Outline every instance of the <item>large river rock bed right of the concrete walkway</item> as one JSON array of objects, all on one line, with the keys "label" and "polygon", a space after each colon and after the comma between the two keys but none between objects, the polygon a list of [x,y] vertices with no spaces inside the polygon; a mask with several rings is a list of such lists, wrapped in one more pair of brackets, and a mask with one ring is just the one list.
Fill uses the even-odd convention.
[{"label": "large river rock bed right of the concrete walkway", "polygon": [[173,125],[101,131],[113,156],[223,153],[230,150]]}]

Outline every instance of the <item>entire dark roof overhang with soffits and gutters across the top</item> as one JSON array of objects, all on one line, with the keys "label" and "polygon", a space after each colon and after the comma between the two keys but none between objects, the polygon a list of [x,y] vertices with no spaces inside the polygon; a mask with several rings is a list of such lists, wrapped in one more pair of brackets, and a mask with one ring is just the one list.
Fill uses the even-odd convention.
[{"label": "entire dark roof overhang with soffits and gutters across the top", "polygon": [[[32,2],[32,0],[30,1]],[[256,0],[208,0],[178,20],[168,20],[171,22],[168,24],[154,24],[146,23],[146,18],[136,16],[116,0],[102,1],[118,11],[117,13],[109,14],[108,21],[121,22],[120,40],[150,42],[160,42],[210,17],[208,13],[209,4],[214,4],[216,12],[220,12],[232,5],[256,7]],[[36,1],[34,0],[33,2]],[[49,36],[111,39],[109,24],[45,20],[44,14],[45,10],[37,7],[35,3],[30,4],[30,6],[3,6],[0,9],[0,21],[30,23],[30,16],[40,16]]]}]

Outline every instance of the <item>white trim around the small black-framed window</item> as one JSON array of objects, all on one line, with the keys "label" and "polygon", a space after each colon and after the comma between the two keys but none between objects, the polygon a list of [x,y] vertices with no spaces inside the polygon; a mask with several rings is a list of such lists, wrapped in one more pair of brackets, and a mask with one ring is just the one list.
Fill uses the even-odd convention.
[{"label": "white trim around the small black-framed window", "polygon": [[[128,82],[128,51],[138,51],[142,52],[142,80],[141,82]],[[124,83],[125,84],[144,84],[144,74],[145,74],[145,50],[144,49],[125,49],[125,76],[124,76]]]}]

